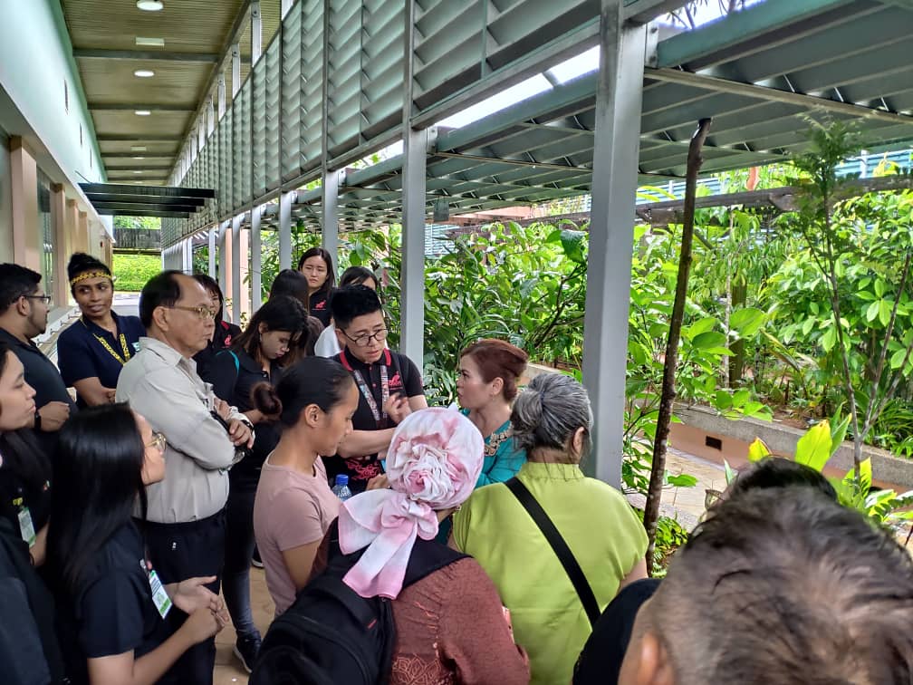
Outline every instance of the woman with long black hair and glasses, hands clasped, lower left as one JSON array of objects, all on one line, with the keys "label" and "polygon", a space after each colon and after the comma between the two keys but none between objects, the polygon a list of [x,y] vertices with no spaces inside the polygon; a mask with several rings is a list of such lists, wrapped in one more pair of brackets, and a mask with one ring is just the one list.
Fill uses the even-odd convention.
[{"label": "woman with long black hair and glasses, hands clasped, lower left", "polygon": [[[162,585],[132,522],[145,516],[145,486],[164,477],[164,437],[126,404],[71,416],[59,435],[58,478],[47,562],[58,600],[61,646],[74,683],[163,679],[184,651],[224,625],[214,578]],[[163,620],[187,612],[169,635]]]}]

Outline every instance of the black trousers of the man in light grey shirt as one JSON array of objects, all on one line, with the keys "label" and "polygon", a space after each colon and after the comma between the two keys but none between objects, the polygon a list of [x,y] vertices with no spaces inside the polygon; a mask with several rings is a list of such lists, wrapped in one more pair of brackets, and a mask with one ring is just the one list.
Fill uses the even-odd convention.
[{"label": "black trousers of the man in light grey shirt", "polygon": [[[215,575],[215,583],[206,585],[216,594],[222,575],[226,546],[225,510],[202,521],[187,523],[142,524],[149,558],[163,585],[180,583],[187,578]],[[167,621],[172,633],[184,623],[187,615],[176,606]],[[208,639],[184,652],[165,673],[161,683],[174,685],[212,685],[215,668],[215,638]]]}]

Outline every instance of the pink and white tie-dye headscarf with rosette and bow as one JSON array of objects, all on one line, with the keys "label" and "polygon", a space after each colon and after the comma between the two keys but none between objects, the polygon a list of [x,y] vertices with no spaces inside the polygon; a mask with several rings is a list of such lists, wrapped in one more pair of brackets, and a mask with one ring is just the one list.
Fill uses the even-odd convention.
[{"label": "pink and white tie-dye headscarf with rosette and bow", "polygon": [[367,547],[343,578],[362,597],[395,599],[415,537],[433,540],[436,511],[466,501],[482,470],[485,440],[453,409],[422,409],[403,420],[387,451],[391,490],[368,490],[340,509],[342,553]]}]

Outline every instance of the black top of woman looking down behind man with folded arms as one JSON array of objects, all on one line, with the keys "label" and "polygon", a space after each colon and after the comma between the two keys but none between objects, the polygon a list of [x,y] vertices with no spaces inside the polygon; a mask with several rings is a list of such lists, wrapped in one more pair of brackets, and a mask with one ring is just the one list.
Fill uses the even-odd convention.
[{"label": "black top of woman looking down behind man with folded arms", "polygon": [[[269,373],[263,366],[244,350],[224,350],[215,355],[210,364],[210,377],[213,392],[219,399],[236,406],[238,411],[247,412],[256,408],[251,400],[251,390],[258,383],[269,383],[275,386],[279,382],[282,370],[273,362]],[[247,457],[241,459],[228,471],[232,487],[252,486],[257,490],[260,469],[269,453],[276,448],[279,441],[278,426],[271,421],[262,421],[254,426],[254,447]]]}]

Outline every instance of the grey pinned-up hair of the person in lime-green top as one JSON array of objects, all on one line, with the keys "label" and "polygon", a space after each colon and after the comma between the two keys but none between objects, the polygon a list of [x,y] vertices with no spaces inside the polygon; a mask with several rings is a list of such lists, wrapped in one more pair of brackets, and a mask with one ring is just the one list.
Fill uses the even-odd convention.
[{"label": "grey pinned-up hair of the person in lime-green top", "polygon": [[578,428],[585,428],[588,436],[593,428],[590,396],[569,375],[538,375],[517,397],[510,423],[518,447],[527,453],[564,449]]}]

